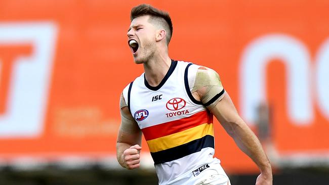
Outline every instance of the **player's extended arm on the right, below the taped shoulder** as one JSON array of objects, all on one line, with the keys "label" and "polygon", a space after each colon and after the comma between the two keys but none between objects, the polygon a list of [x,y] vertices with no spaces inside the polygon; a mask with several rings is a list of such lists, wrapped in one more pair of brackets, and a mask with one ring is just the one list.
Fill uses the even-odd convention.
[{"label": "player's extended arm on the right, below the taped shoulder", "polygon": [[[203,72],[204,73],[204,72]],[[193,97],[201,101],[203,104],[209,101],[209,96],[214,97],[214,95],[219,93],[222,88],[220,79],[219,82],[213,83],[211,80],[214,75],[212,72],[208,71],[209,75],[205,75],[205,79],[210,78],[206,81],[205,85],[199,85],[199,88],[192,93]],[[216,73],[216,72],[215,72]],[[217,73],[216,73],[217,74]],[[197,79],[196,79],[197,80]],[[195,83],[196,83],[195,80]],[[207,84],[208,81],[208,84]],[[212,86],[218,86],[216,88],[209,88]],[[206,98],[204,98],[206,97]],[[205,100],[205,101],[203,101]],[[248,127],[248,125],[242,120],[238,115],[235,106],[227,92],[221,96],[221,99],[214,101],[210,106],[207,107],[217,118],[217,120],[224,127],[226,132],[233,138],[239,149],[248,155],[259,167],[261,174],[256,180],[256,185],[271,185],[272,184],[272,168],[270,162],[254,132]]]}]

